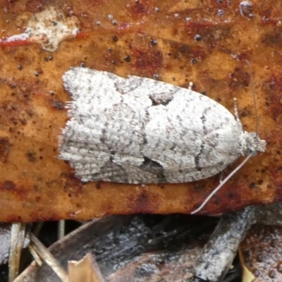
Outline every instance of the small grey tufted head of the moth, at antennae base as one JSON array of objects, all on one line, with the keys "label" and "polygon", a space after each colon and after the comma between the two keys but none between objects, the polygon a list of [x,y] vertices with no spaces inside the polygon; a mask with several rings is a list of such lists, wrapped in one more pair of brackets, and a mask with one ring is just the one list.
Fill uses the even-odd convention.
[{"label": "small grey tufted head of the moth, at antennae base", "polygon": [[[254,152],[264,152],[266,148],[265,140],[259,139],[257,133],[244,131],[240,136],[240,148],[243,156]],[[253,154],[255,156],[255,154]]]}]

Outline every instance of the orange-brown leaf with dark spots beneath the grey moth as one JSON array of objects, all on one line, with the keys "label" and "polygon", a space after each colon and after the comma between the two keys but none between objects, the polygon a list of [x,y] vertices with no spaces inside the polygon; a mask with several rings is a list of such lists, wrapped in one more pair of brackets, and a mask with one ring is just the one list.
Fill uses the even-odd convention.
[{"label": "orange-brown leaf with dark spots beneath the grey moth", "polygon": [[[56,156],[57,137],[68,118],[64,106],[70,100],[61,75],[80,65],[121,76],[158,77],[183,87],[192,81],[196,91],[230,111],[236,97],[244,128],[253,131],[250,69],[245,63],[249,60],[259,136],[266,140],[267,149],[233,176],[201,212],[215,214],[280,201],[282,3],[256,2],[248,13],[240,13],[239,3],[1,1],[0,221],[190,213],[218,185],[219,176],[166,185],[82,183],[76,179],[69,164]],[[25,32],[33,13],[50,5],[66,18],[78,18],[81,30],[75,38],[64,39],[54,52],[28,40],[5,40]]]}]

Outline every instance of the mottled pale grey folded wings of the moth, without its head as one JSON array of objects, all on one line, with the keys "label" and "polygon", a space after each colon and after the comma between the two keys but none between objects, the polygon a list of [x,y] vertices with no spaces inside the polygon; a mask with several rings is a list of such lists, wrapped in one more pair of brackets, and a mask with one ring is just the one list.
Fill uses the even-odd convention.
[{"label": "mottled pale grey folded wings of the moth, without its head", "polygon": [[240,156],[242,125],[202,94],[88,68],[71,68],[63,82],[73,101],[59,158],[83,181],[188,182]]}]

